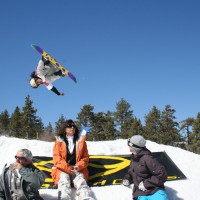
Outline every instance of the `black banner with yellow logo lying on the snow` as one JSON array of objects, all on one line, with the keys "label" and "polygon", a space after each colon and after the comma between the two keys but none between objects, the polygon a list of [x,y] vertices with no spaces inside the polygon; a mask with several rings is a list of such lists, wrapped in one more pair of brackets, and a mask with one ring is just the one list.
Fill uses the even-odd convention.
[{"label": "black banner with yellow logo lying on the snow", "polygon": [[[165,166],[167,180],[185,179],[186,176],[175,165],[165,152],[153,152],[153,157]],[[91,187],[120,185],[128,172],[131,155],[93,155],[90,156],[88,185]],[[56,188],[51,178],[52,157],[34,156],[34,165],[45,173],[46,179],[42,188]]]}]

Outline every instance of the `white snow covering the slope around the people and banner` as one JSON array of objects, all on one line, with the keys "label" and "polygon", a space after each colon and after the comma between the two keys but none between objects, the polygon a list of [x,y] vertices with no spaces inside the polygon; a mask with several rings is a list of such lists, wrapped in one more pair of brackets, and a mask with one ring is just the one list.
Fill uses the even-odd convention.
[{"label": "white snow covering the slope around the people and banner", "polygon": [[[15,161],[14,156],[20,148],[30,149],[34,156],[52,156],[54,142],[26,140],[18,138],[0,137],[0,172],[6,163]],[[90,155],[121,155],[130,154],[126,140],[87,142]],[[169,200],[200,200],[200,155],[182,150],[177,147],[159,145],[147,141],[147,148],[152,152],[165,151],[179,169],[186,175],[186,180],[165,182]],[[98,200],[130,200],[132,199],[132,186],[123,185],[92,187]],[[56,200],[57,190],[40,189],[45,200]],[[73,191],[73,197],[75,191]],[[76,198],[75,198],[76,199]]]}]

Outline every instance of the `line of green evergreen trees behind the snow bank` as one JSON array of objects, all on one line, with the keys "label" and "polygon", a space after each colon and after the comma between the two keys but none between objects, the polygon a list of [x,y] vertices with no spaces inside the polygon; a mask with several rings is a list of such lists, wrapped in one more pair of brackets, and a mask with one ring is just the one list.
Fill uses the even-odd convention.
[{"label": "line of green evergreen trees behind the snow bank", "polygon": [[[95,113],[94,106],[84,105],[74,121],[79,130],[84,126],[91,127],[87,137],[89,141],[127,139],[141,134],[147,140],[200,154],[200,112],[196,118],[188,117],[181,122],[176,121],[175,112],[170,105],[166,105],[164,110],[153,106],[144,116],[143,125],[131,110],[130,103],[122,98],[116,103],[115,111]],[[55,122],[55,128],[51,123],[44,126],[27,95],[22,108],[17,106],[11,115],[7,109],[0,113],[0,135],[54,141],[65,120],[62,114]]]}]

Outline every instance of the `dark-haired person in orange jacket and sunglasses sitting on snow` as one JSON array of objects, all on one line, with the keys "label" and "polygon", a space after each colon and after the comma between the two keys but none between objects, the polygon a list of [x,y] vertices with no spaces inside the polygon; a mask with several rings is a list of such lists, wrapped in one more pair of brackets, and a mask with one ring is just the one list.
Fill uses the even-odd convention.
[{"label": "dark-haired person in orange jacket and sunglasses sitting on snow", "polygon": [[58,198],[71,200],[71,189],[77,189],[80,200],[93,200],[94,195],[87,185],[89,155],[86,135],[79,137],[79,130],[73,120],[66,120],[61,126],[53,147],[52,179],[58,185]]}]

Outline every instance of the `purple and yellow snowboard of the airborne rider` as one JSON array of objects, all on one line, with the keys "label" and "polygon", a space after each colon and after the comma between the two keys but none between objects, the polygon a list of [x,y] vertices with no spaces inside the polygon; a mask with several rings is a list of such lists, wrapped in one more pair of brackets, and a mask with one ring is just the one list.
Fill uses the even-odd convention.
[{"label": "purple and yellow snowboard of the airborne rider", "polygon": [[50,56],[46,51],[44,51],[41,47],[31,44],[31,47],[35,49],[39,54],[41,54],[44,58],[48,59],[52,64],[54,64],[56,67],[58,67],[62,72],[64,72],[67,76],[69,76],[75,83],[77,83],[76,77],[69,72],[65,67],[63,67],[60,63],[56,61],[55,58]]}]

